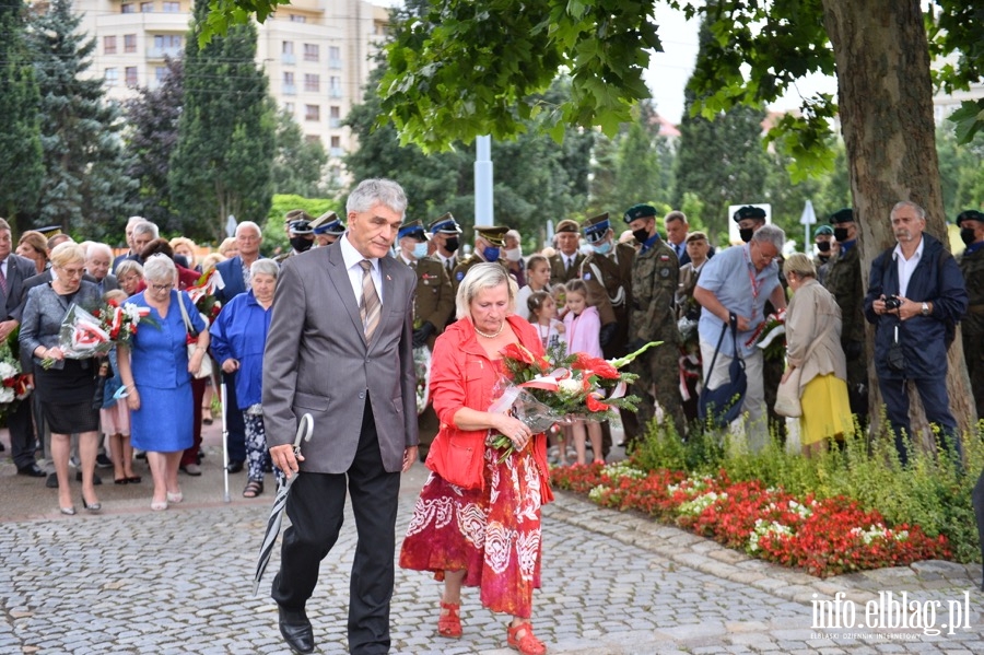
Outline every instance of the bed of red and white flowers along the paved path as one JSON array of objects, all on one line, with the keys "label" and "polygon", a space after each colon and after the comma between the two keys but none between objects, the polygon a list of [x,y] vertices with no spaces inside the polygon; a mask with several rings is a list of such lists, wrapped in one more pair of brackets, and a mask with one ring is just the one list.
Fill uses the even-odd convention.
[{"label": "bed of red and white flowers along the paved path", "polygon": [[641,471],[631,465],[555,468],[558,489],[587,493],[604,507],[637,510],[749,554],[820,577],[948,559],[942,535],[918,526],[889,527],[877,511],[836,496],[798,499],[759,481],[692,478],[681,471]]}]

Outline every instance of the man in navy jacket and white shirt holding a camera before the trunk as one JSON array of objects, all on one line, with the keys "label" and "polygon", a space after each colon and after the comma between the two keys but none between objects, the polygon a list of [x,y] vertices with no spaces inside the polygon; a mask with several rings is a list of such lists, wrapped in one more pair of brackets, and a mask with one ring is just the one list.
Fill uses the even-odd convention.
[{"label": "man in navy jacket and white shirt holding a camera before the trunk", "polygon": [[[875,372],[903,465],[904,435],[912,438],[906,382],[915,388],[929,423],[962,457],[957,421],[947,395],[947,348],[967,311],[967,289],[953,257],[929,234],[926,211],[911,201],[891,212],[898,244],[875,258],[865,317],[875,325]],[[954,451],[951,451],[954,452]]]}]

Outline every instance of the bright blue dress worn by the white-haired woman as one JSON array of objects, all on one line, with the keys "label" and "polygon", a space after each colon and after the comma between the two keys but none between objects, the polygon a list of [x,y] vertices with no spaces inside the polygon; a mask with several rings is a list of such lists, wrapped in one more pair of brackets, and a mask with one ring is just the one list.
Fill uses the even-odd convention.
[{"label": "bright blue dress worn by the white-haired woman", "polygon": [[[141,451],[176,453],[194,443],[195,405],[188,373],[187,330],[177,304],[179,300],[185,303],[195,329],[206,329],[188,294],[172,290],[167,317],[163,318],[151,307],[151,319],[157,325],[141,325],[130,343],[130,369],[140,394],[140,409],[130,412],[130,442]],[[129,302],[150,306],[143,293]]]}]

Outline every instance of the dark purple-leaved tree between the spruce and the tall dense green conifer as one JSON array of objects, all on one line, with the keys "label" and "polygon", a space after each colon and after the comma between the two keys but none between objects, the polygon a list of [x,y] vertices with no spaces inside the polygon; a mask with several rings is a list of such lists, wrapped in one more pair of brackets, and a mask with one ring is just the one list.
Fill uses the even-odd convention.
[{"label": "dark purple-leaved tree between the spruce and the tall dense green conifer", "polygon": [[133,154],[127,172],[140,180],[140,207],[136,213],[162,230],[184,234],[186,225],[180,214],[171,209],[167,184],[181,115],[184,66],[180,59],[167,59],[166,67],[160,86],[140,87],[137,97],[126,103],[128,147]]}]

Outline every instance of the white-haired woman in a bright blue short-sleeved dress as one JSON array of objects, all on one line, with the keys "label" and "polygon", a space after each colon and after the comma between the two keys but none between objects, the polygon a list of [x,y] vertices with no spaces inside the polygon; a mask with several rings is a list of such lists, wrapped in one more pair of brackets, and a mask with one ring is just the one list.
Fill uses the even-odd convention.
[{"label": "white-haired woman in a bright blue short-sleeved dress", "polygon": [[[166,510],[183,500],[178,465],[185,448],[194,443],[191,375],[201,369],[209,348],[209,331],[195,303],[174,289],[177,269],[166,255],[152,255],[143,265],[147,291],[131,300],[151,309],[150,323],[133,336],[130,347],[119,347],[119,373],[130,407],[130,441],[147,451],[154,480],[151,508]],[[180,305],[185,311],[181,312]],[[188,334],[184,314],[191,321]],[[189,339],[196,343],[189,358]]]}]

